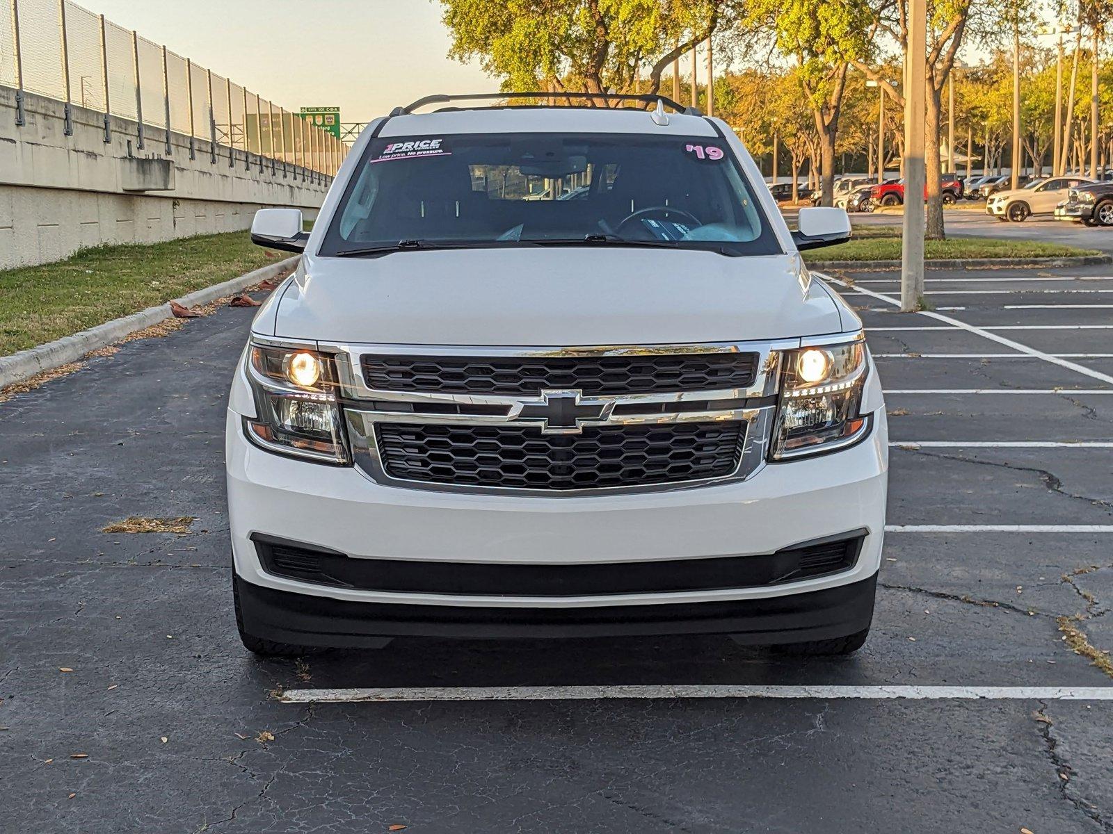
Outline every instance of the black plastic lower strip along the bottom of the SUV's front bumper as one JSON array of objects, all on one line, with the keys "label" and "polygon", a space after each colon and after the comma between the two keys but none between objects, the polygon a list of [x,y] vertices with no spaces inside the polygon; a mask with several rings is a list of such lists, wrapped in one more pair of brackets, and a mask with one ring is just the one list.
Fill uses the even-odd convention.
[{"label": "black plastic lower strip along the bottom of the SUV's front bumper", "polygon": [[353,603],[294,594],[234,577],[243,628],[263,639],[357,647],[383,637],[609,637],[730,634],[757,645],[845,637],[869,627],[877,575],[824,590],[683,605],[475,608]]}]

